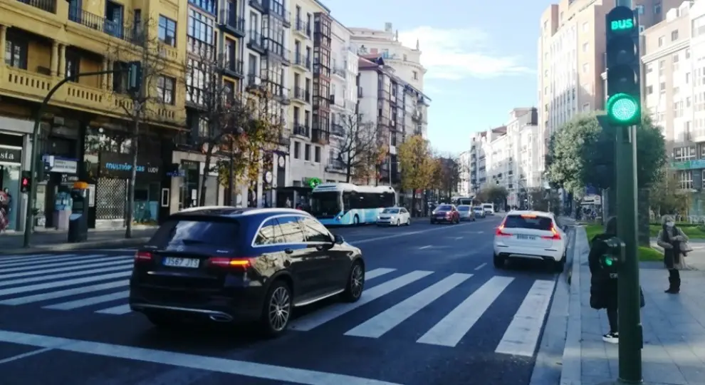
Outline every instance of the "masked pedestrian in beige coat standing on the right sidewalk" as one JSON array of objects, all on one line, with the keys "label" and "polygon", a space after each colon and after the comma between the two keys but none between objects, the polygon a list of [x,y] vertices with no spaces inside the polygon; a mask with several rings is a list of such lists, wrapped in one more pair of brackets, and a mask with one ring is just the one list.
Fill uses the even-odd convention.
[{"label": "masked pedestrian in beige coat standing on the right sidewalk", "polygon": [[659,230],[659,235],[656,237],[657,245],[664,249],[664,267],[668,270],[668,289],[665,292],[669,294],[678,294],[681,291],[681,273],[679,270],[685,270],[684,250],[688,236],[683,230],[676,226],[673,217],[664,215],[662,219],[662,229]]}]

